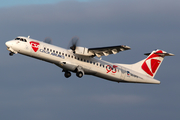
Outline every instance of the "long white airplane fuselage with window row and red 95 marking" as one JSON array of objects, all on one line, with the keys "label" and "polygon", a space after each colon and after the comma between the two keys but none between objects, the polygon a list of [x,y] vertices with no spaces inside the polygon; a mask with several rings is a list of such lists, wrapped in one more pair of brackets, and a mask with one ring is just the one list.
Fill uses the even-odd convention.
[{"label": "long white airplane fuselage with window row and red 95 marking", "polygon": [[72,50],[63,49],[51,44],[40,42],[27,37],[6,42],[7,49],[13,53],[20,53],[46,62],[53,63],[63,71],[77,72],[94,75],[116,82],[133,83],[160,83],[159,81],[138,73],[118,64],[82,56],[73,53]]}]

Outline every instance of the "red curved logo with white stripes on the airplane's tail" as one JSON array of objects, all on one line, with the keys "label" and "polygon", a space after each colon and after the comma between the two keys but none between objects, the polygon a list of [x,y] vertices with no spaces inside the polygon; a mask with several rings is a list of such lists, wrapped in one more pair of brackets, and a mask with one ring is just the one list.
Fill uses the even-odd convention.
[{"label": "red curved logo with white stripes on the airplane's tail", "polygon": [[153,54],[151,54],[142,64],[141,68],[150,76],[154,76],[159,65],[162,62],[162,57],[156,53],[163,53],[162,50],[159,50]]}]

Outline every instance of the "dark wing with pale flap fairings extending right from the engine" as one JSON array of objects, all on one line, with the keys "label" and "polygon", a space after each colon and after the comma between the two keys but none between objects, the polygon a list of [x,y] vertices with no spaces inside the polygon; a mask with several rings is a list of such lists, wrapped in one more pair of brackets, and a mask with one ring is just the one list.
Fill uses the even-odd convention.
[{"label": "dark wing with pale flap fairings extending right from the engine", "polygon": [[116,54],[120,51],[129,50],[129,49],[131,49],[129,46],[119,45],[119,46],[109,46],[109,47],[100,47],[100,48],[88,48],[88,52],[93,54],[93,56],[101,57],[101,56],[108,56],[110,54]]}]

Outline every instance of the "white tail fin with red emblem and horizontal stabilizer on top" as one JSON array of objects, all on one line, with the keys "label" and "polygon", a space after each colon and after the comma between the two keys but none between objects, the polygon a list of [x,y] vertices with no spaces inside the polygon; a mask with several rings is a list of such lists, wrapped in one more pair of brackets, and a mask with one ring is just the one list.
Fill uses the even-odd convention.
[{"label": "white tail fin with red emblem and horizontal stabilizer on top", "polygon": [[135,64],[125,66],[151,78],[154,78],[164,57],[173,56],[174,54],[167,53],[163,50],[155,50],[151,53],[146,53],[145,55],[148,55],[146,59]]}]

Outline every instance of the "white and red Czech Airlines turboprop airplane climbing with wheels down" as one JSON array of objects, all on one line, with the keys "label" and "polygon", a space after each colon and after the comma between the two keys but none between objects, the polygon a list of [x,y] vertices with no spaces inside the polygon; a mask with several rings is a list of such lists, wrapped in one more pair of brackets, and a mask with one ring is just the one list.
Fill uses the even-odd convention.
[{"label": "white and red Czech Airlines turboprop airplane climbing with wheels down", "polygon": [[101,60],[100,57],[129,50],[129,46],[85,48],[77,46],[74,42],[70,49],[64,49],[32,39],[29,36],[19,36],[5,44],[7,50],[10,51],[10,56],[20,53],[53,63],[62,68],[66,78],[69,78],[73,72],[79,78],[83,75],[93,75],[110,81],[128,83],[160,84],[160,81],[154,79],[154,76],[164,57],[174,55],[157,49],[145,54],[148,57],[135,64],[119,64]]}]

